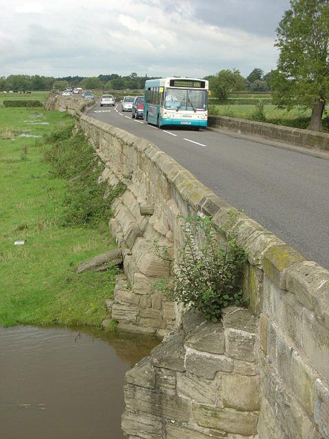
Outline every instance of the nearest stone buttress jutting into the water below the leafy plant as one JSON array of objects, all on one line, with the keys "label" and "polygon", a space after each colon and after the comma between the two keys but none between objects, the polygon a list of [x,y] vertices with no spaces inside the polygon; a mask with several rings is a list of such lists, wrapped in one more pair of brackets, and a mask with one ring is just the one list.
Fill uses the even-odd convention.
[{"label": "nearest stone buttress jutting into the water below the leafy plant", "polygon": [[256,318],[228,308],[213,324],[187,315],[127,372],[122,426],[132,439],[256,436],[259,375]]}]

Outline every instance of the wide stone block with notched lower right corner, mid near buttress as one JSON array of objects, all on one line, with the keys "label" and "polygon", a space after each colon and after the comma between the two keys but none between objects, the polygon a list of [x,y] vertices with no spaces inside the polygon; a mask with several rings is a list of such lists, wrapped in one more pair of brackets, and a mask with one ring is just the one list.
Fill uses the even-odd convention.
[{"label": "wide stone block with notched lower right corner, mid near buttress", "polygon": [[206,379],[214,379],[217,372],[232,372],[233,361],[225,355],[186,353],[186,371]]}]

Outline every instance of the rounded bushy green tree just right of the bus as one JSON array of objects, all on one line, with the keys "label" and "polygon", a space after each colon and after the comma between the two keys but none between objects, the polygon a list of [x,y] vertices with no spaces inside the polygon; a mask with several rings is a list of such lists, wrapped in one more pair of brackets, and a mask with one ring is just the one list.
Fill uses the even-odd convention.
[{"label": "rounded bushy green tree just right of the bus", "polygon": [[221,101],[228,99],[230,93],[245,88],[245,80],[239,70],[221,70],[215,76],[208,76],[209,88],[214,97]]}]

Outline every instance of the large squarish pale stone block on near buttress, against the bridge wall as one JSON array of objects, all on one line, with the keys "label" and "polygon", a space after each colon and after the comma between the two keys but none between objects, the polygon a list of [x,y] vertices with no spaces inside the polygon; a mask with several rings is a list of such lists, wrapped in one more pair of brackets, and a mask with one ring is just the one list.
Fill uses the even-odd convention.
[{"label": "large squarish pale stone block on near buttress, against the bridge wall", "polygon": [[259,410],[259,377],[236,374],[221,376],[220,397],[224,407],[242,412]]}]

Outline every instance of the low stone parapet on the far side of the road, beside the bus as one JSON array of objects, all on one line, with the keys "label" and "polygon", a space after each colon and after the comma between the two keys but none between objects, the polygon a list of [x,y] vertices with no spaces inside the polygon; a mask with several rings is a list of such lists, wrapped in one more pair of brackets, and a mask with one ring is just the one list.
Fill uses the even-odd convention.
[{"label": "low stone parapet on the far side of the road, beside the bus", "polygon": [[324,132],[314,132],[227,116],[209,116],[208,126],[238,132],[239,134],[260,136],[264,139],[289,143],[291,145],[329,151],[329,134]]}]

